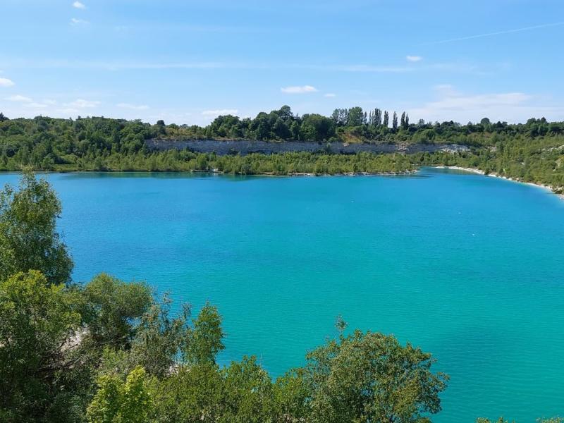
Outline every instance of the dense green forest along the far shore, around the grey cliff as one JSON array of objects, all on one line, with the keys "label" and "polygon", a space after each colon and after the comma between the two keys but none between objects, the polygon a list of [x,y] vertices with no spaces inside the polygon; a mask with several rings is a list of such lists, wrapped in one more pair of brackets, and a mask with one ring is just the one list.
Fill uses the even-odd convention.
[{"label": "dense green forest along the far shore, around the grey cliff", "polygon": [[[312,142],[455,143],[470,152],[419,154],[311,154],[266,156],[154,152],[151,138],[308,140]],[[0,114],[0,171],[32,166],[43,171],[219,171],[238,174],[400,173],[425,165],[480,168],[527,182],[564,187],[564,122],[411,123],[407,113],[360,107],[336,109],[330,117],[297,116],[290,107],[255,118],[219,116],[205,128],[155,125],[103,117],[8,119]]]}]

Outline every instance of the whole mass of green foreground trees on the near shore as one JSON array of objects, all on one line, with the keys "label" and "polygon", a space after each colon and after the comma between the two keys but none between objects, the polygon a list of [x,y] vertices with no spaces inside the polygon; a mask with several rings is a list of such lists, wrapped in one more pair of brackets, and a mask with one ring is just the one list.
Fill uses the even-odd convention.
[{"label": "whole mass of green foreground trees on the near shore", "polygon": [[254,356],[220,365],[213,305],[173,313],[146,283],[72,281],[60,214],[30,171],[0,192],[1,422],[423,423],[440,412],[448,376],[430,353],[340,317],[277,379]]}]

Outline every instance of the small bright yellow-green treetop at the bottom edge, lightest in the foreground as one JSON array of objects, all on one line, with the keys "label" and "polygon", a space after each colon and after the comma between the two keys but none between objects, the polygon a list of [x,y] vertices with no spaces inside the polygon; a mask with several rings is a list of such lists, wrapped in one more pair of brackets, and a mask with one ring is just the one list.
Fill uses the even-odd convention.
[{"label": "small bright yellow-green treetop at the bottom edge, lightest in the foreground", "polygon": [[100,376],[86,415],[91,423],[145,423],[150,422],[152,409],[145,370],[135,367],[125,381],[116,375]]}]

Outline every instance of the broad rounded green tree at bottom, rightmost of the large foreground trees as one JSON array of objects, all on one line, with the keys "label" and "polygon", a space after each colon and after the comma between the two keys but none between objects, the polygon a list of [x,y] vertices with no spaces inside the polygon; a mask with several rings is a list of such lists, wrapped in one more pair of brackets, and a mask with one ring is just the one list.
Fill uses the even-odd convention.
[{"label": "broad rounded green tree at bottom, rightmost of the large foreground trees", "polygon": [[393,336],[355,331],[307,355],[314,422],[425,422],[441,410],[448,376],[429,353]]}]

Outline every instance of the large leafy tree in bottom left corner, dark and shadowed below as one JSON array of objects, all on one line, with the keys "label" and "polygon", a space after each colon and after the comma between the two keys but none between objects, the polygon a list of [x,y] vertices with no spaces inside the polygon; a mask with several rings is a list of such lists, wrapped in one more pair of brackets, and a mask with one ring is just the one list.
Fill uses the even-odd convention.
[{"label": "large leafy tree in bottom left corner, dark and shadowed below", "polygon": [[[8,422],[66,421],[73,385],[65,372],[78,366],[73,350],[80,314],[61,285],[39,271],[0,283],[0,416]],[[69,389],[71,391],[69,391]]]}]

